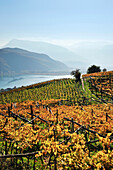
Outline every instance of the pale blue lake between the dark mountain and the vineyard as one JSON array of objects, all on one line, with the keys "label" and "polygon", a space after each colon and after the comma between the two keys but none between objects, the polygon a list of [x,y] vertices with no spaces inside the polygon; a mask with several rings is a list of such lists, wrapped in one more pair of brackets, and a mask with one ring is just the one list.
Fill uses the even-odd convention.
[{"label": "pale blue lake between the dark mountain and the vineyard", "polygon": [[72,78],[71,75],[19,75],[14,77],[0,77],[0,89],[27,86],[53,79]]}]

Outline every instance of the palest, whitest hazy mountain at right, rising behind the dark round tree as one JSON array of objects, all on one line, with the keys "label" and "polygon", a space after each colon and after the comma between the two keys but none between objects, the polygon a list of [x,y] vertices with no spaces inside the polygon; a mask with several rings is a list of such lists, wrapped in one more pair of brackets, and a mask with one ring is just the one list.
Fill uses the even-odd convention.
[{"label": "palest, whitest hazy mountain at right, rising behind the dark round tree", "polygon": [[[70,46],[70,50],[84,56],[89,66],[95,64],[101,68],[113,70],[113,43],[103,41],[83,41]],[[88,68],[87,67],[87,68]]]}]

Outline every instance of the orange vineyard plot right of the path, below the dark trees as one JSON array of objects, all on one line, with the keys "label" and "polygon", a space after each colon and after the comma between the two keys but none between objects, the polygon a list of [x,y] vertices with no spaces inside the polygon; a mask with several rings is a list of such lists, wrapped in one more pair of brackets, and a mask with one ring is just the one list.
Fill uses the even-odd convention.
[{"label": "orange vineyard plot right of the path, below the dark trees", "polygon": [[[83,75],[83,78],[88,75]],[[106,102],[113,100],[113,71],[93,73],[87,77],[90,90],[98,98],[104,99]],[[105,102],[104,101],[104,102]]]}]

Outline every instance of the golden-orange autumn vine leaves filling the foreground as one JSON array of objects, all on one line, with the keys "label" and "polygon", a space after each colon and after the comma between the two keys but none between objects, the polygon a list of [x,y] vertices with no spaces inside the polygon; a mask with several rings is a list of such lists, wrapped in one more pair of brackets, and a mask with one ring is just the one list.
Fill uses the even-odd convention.
[{"label": "golden-orange autumn vine leaves filling the foreground", "polygon": [[[32,149],[34,145],[37,145],[39,152],[36,154],[36,158],[38,159],[40,156],[42,158],[46,157],[47,161],[52,155],[57,159],[57,166],[59,168],[75,167],[76,169],[88,169],[95,167],[99,169],[99,167],[103,166],[107,169],[113,167],[113,152],[110,148],[112,140],[109,139],[113,133],[112,104],[82,106],[81,109],[79,106],[58,106],[57,104],[51,106],[51,108],[44,107],[50,103],[57,103],[57,100],[48,100],[47,103],[45,100],[38,102],[39,107],[37,107],[37,102],[34,101],[18,103],[16,108],[13,107],[11,111],[30,121],[31,115],[28,113],[30,113],[30,105],[32,105],[33,114],[46,120],[48,124],[37,118],[34,121],[33,129],[32,124],[24,123],[19,118],[14,120],[14,118],[10,117],[7,118],[8,122],[4,126],[6,118],[1,115],[0,131],[6,132],[7,140],[12,139],[12,142],[17,142],[18,148],[22,152],[26,149],[28,150],[28,148]],[[8,116],[8,106],[9,104],[0,105],[0,112],[2,111],[6,116]],[[107,121],[106,112],[109,115]],[[56,113],[58,113],[58,122]],[[71,133],[71,122],[66,121],[64,117],[73,117],[73,120],[81,126],[98,132],[97,135],[89,132],[87,140],[98,139],[98,142],[93,145],[94,148],[101,146],[101,150],[99,149],[98,152],[95,149],[89,150],[89,146],[86,144],[86,132],[80,130],[79,134]],[[74,131],[78,128],[79,126],[74,124]],[[102,134],[105,138],[99,136],[99,134]],[[69,138],[69,140],[63,142],[66,138]],[[48,167],[46,161],[43,164]]]}]

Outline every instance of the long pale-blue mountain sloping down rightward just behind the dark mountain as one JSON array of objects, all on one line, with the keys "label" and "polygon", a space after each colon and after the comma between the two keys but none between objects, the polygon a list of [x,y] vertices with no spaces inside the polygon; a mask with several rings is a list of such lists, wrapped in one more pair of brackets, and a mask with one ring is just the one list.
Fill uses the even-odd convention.
[{"label": "long pale-blue mountain sloping down rightward just behind the dark mountain", "polygon": [[81,65],[85,65],[85,62],[83,62],[83,57],[67,48],[47,42],[14,39],[6,44],[5,47],[18,47],[33,52],[44,53],[49,55],[54,60],[63,62],[69,67],[80,68]]}]

